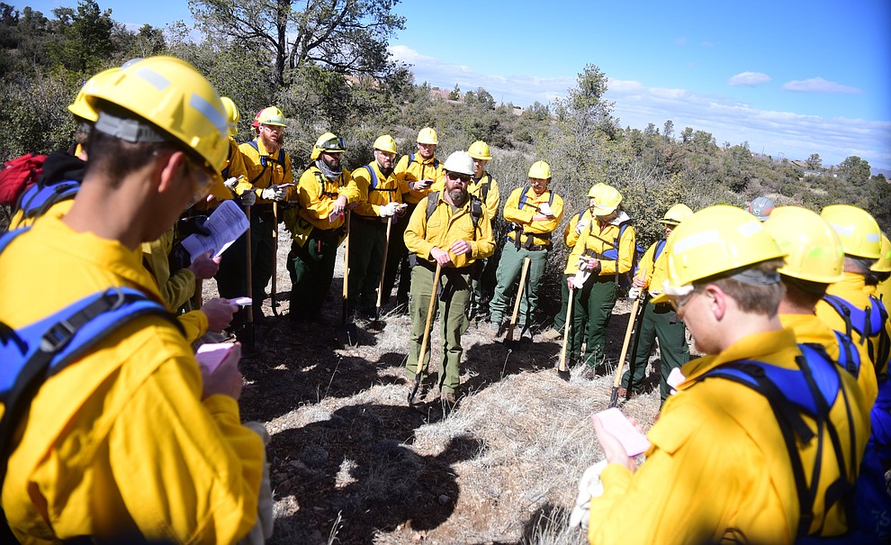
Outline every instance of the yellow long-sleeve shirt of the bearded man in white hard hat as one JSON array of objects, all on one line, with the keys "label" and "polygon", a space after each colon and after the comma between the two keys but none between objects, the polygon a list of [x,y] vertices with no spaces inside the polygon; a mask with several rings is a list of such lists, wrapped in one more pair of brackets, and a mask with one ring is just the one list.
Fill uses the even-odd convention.
[{"label": "yellow long-sleeve shirt of the bearded man in white hard hat", "polygon": [[437,193],[437,208],[427,218],[428,197],[421,199],[418,207],[411,213],[409,225],[405,228],[405,246],[416,254],[418,259],[435,261],[430,257],[430,250],[438,248],[448,251],[455,241],[469,241],[471,251],[462,255],[452,255],[452,263],[446,267],[464,268],[476,259],[488,258],[495,251],[492,240],[489,212],[482,206],[482,217],[473,227],[470,198],[464,206],[453,210],[446,202],[443,193]]}]

